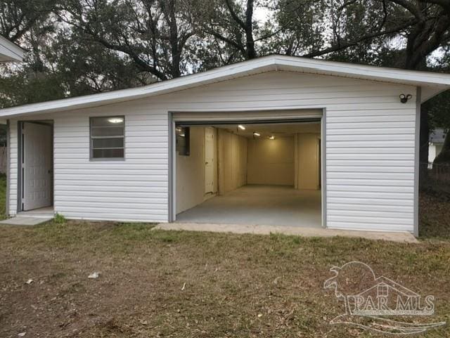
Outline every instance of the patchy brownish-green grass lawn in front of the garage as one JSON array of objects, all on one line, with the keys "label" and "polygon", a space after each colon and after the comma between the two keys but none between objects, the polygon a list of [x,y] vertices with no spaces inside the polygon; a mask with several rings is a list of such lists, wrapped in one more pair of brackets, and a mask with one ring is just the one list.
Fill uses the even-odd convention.
[{"label": "patchy brownish-green grass lawn in front of the garage", "polygon": [[[151,227],[1,226],[0,337],[383,337],[328,324],[344,305],[323,282],[348,261],[434,295],[435,316],[417,320],[450,322],[442,237],[399,244]],[[87,278],[94,271],[100,277]]]}]

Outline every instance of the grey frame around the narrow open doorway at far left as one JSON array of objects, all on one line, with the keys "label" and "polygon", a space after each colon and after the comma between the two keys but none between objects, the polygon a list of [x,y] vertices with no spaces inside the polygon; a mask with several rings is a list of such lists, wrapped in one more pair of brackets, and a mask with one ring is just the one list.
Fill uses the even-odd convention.
[{"label": "grey frame around the narrow open doorway at far left", "polygon": [[52,119],[30,119],[30,120],[21,120],[18,121],[18,148],[17,148],[17,158],[18,158],[18,178],[17,178],[17,212],[23,212],[23,152],[24,152],[24,144],[23,144],[23,124],[25,122],[36,123],[36,124],[45,124],[46,126],[51,126],[51,187],[50,187],[50,200],[51,206],[54,204],[54,187],[55,187],[55,137],[54,137],[54,126]]}]

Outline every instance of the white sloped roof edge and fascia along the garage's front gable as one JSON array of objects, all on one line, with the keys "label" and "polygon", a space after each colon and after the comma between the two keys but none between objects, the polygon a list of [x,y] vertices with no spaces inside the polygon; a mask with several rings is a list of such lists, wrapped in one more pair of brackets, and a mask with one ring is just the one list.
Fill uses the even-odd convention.
[{"label": "white sloped roof edge and fascia along the garage's front gable", "polygon": [[7,118],[27,113],[44,113],[96,107],[181,91],[195,86],[276,70],[420,86],[422,87],[422,101],[428,100],[428,98],[437,95],[437,93],[450,88],[450,74],[398,70],[394,68],[338,63],[295,56],[272,55],[133,89],[122,89],[119,91],[109,91],[88,96],[64,98],[62,100],[6,108],[0,110],[0,117]]}]

